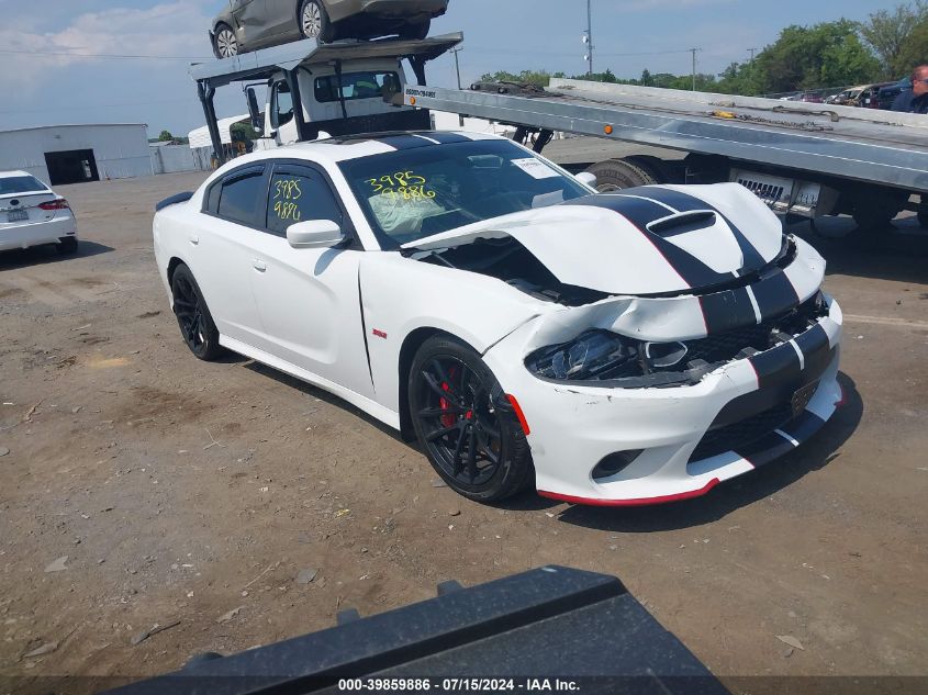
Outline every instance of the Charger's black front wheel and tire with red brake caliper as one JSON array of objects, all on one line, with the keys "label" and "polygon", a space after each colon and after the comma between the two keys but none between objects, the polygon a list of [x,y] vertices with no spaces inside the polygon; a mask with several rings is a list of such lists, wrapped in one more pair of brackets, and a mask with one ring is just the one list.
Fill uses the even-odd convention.
[{"label": "Charger's black front wheel and tire with red brake caliper", "polygon": [[532,452],[500,382],[469,346],[427,339],[409,374],[410,414],[428,462],[477,502],[511,497],[534,482]]}]

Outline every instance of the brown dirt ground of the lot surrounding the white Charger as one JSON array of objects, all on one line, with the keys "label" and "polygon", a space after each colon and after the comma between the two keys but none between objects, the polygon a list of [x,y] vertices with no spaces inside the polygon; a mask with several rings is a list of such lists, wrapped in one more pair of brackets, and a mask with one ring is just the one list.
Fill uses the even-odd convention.
[{"label": "brown dirt ground of the lot surrounding the white Charger", "polygon": [[[673,505],[481,506],[338,399],[188,352],[150,222],[203,178],[62,187],[80,254],[0,256],[0,674],[18,676],[0,692],[63,674],[112,685],[546,563],[619,576],[728,682],[928,675],[928,235],[914,220],[857,243],[847,220],[796,227],[846,318],[848,403],[807,446]],[[172,627],[133,643],[155,625]]]}]

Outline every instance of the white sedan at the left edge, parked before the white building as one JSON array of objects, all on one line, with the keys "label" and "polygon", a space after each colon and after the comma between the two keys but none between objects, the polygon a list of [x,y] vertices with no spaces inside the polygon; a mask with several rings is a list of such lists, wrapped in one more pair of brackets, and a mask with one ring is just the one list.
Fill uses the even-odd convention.
[{"label": "white sedan at the left edge, parked before the white building", "polygon": [[25,171],[0,171],[0,251],[55,244],[77,251],[77,222],[68,201]]}]

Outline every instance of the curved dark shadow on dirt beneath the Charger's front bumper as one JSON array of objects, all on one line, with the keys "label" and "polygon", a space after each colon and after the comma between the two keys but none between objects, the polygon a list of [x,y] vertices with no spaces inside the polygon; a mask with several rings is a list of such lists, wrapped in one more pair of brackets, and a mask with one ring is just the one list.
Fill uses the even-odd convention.
[{"label": "curved dark shadow on dirt beneath the Charger's front bumper", "polygon": [[[731,512],[763,500],[795,483],[812,471],[832,464],[863,416],[863,401],[853,380],[838,375],[845,404],[825,427],[798,449],[741,478],[724,482],[708,494],[648,507],[571,506],[559,515],[567,524],[607,531],[648,534],[677,530],[717,522]],[[840,462],[837,463],[840,466]],[[532,508],[532,507],[528,507]]]}]

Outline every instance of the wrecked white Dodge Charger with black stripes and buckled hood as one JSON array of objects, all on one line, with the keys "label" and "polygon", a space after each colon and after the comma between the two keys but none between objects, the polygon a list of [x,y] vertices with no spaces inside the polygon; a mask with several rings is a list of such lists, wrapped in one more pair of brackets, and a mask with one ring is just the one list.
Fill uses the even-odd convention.
[{"label": "wrecked white Dodge Charger with black stripes and buckled hood", "polygon": [[842,397],[825,261],[735,183],[595,194],[494,136],[353,136],[235,159],[154,237],[197,357],[342,396],[472,500],[700,495]]}]

